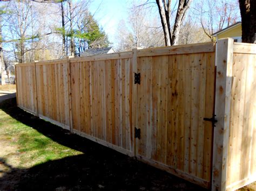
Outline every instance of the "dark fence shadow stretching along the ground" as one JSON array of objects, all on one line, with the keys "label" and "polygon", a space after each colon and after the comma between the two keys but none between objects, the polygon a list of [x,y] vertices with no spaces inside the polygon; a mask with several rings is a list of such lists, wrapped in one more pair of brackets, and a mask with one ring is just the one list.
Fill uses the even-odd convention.
[{"label": "dark fence shadow stretching along the ground", "polygon": [[[204,190],[32,116],[17,108],[15,99],[4,105],[0,104],[0,108],[13,118],[84,154],[29,169],[12,168],[0,158],[2,165],[10,169],[0,178],[0,190]],[[5,182],[2,189],[1,182]]]}]

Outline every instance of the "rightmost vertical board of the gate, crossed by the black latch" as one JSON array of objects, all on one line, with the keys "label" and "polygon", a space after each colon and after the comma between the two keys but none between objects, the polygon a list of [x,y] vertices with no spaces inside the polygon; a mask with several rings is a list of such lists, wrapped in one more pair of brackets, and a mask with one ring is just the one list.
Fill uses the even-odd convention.
[{"label": "rightmost vertical board of the gate, crossed by the black latch", "polygon": [[[214,114],[214,80],[215,80],[215,53],[207,54],[206,62],[206,90],[205,90],[205,117],[211,118]],[[204,125],[204,176],[203,179],[211,180],[212,160],[212,135],[213,127],[211,122]]]}]

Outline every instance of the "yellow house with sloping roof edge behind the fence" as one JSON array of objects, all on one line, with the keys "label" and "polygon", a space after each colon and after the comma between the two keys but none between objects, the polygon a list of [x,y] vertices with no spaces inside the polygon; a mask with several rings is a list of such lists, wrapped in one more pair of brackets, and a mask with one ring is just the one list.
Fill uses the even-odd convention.
[{"label": "yellow house with sloping roof edge behind the fence", "polygon": [[216,41],[221,38],[233,38],[234,42],[241,43],[242,42],[242,23],[237,22],[233,25],[226,27],[218,32],[212,34],[215,37]]}]

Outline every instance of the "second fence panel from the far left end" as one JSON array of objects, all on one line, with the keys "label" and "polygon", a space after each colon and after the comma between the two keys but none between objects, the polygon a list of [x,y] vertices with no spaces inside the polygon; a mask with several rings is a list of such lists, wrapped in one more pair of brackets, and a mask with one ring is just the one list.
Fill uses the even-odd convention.
[{"label": "second fence panel from the far left end", "polygon": [[36,62],[38,116],[70,130],[69,59]]}]

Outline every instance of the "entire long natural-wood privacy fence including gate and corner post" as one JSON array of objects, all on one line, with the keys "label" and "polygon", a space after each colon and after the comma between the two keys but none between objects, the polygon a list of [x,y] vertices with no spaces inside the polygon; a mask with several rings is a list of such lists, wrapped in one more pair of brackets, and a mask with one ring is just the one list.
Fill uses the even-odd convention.
[{"label": "entire long natural-wood privacy fence including gate and corner post", "polygon": [[203,187],[237,189],[256,180],[255,56],[222,39],[22,63],[17,105]]}]

